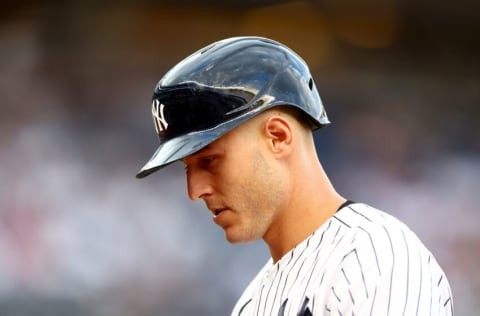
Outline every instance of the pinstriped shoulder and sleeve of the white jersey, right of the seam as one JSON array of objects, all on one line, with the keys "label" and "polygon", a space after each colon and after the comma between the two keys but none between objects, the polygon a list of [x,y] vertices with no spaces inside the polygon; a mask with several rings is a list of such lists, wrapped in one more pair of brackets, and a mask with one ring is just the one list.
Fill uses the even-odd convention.
[{"label": "pinstriped shoulder and sleeve of the white jersey, right of the seam", "polygon": [[344,207],[333,219],[351,238],[329,273],[331,292],[320,291],[316,297],[326,302],[326,310],[451,315],[451,290],[443,270],[403,222],[361,203]]}]

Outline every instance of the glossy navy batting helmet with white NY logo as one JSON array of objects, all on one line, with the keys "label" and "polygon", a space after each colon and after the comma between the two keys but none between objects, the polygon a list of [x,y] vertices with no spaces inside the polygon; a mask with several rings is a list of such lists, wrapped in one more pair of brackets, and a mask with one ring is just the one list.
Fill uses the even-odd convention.
[{"label": "glossy navy batting helmet with white NY logo", "polygon": [[160,146],[137,178],[279,105],[303,111],[312,129],[330,123],[308,66],[288,47],[261,37],[234,37],[193,53],[155,87],[152,116]]}]

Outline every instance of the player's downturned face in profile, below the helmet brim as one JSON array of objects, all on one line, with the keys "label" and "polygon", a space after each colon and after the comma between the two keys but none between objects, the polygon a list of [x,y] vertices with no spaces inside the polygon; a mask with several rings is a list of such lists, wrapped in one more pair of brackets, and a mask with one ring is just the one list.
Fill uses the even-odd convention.
[{"label": "player's downturned face in profile, below the helmet brim", "polygon": [[262,238],[278,217],[284,191],[261,129],[236,128],[185,158],[188,194],[203,199],[229,242]]}]

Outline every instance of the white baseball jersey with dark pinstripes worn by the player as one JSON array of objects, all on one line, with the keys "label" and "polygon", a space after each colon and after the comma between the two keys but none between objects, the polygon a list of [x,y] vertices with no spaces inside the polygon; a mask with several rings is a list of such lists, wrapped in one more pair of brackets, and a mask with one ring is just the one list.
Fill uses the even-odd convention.
[{"label": "white baseball jersey with dark pinstripes worn by the player", "polygon": [[232,316],[453,315],[448,280],[403,223],[361,203],[341,208],[269,262]]}]

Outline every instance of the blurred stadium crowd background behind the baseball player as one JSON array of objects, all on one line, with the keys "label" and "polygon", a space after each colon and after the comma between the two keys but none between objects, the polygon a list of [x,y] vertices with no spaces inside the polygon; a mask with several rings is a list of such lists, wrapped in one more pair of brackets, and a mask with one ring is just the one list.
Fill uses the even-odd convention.
[{"label": "blurred stadium crowd background behind the baseball player", "polygon": [[229,245],[183,168],[135,173],[160,77],[236,35],[309,63],[345,196],[405,221],[480,314],[480,5],[475,1],[0,4],[0,315],[227,315],[268,257]]}]

